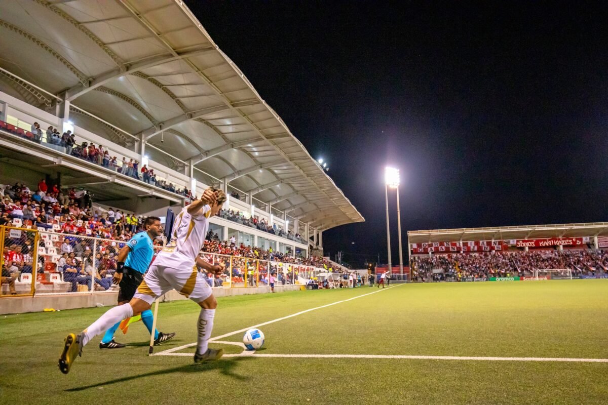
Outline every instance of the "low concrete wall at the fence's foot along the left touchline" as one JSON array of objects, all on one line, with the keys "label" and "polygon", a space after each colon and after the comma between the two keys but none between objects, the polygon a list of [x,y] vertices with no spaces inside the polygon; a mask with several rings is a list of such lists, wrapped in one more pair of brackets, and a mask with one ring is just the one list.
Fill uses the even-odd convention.
[{"label": "low concrete wall at the fence's foot along the left touchline", "polygon": [[[277,293],[282,291],[300,290],[300,285],[277,285]],[[235,296],[245,294],[266,294],[269,287],[240,287],[240,288],[213,288],[216,297]],[[34,297],[2,298],[0,299],[0,315],[42,312],[46,308],[55,310],[70,310],[78,308],[93,308],[97,306],[110,307],[116,305],[118,292],[73,293],[73,294],[44,294]],[[177,291],[169,291],[161,301],[178,301],[187,299]]]}]

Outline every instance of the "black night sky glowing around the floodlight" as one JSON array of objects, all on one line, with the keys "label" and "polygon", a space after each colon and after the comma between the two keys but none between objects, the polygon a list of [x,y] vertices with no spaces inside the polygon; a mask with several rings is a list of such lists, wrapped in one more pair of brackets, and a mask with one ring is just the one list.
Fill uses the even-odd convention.
[{"label": "black night sky glowing around the floodlight", "polygon": [[365,217],[323,233],[351,265],[387,261],[387,165],[404,255],[407,230],[608,220],[605,4],[491,3],[187,1]]}]

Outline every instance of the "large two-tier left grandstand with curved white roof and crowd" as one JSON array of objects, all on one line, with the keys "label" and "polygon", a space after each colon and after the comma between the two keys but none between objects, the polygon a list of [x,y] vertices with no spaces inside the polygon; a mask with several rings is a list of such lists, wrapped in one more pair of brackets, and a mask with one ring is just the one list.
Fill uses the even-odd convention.
[{"label": "large two-tier left grandstand with curved white roof and crowd", "polygon": [[364,218],[182,2],[4,2],[0,32],[2,294],[112,291],[143,218],[209,186],[214,287],[344,271],[323,231]]}]

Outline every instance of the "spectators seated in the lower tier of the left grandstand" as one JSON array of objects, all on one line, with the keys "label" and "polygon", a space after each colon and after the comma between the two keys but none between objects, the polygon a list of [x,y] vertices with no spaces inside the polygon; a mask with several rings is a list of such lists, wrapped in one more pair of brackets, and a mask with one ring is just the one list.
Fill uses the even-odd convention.
[{"label": "spectators seated in the lower tier of the left grandstand", "polygon": [[[57,232],[61,240],[54,246],[50,245],[53,253],[46,250],[47,254],[39,254],[38,272],[44,273],[46,269],[63,274],[63,281],[71,283],[70,291],[90,288],[91,281],[97,290],[111,288],[111,279],[106,276],[114,273],[120,248],[134,233],[142,230],[142,223],[142,217],[120,209],[108,207],[101,211],[93,210],[86,191],[47,185],[44,179],[40,180],[36,191],[22,183],[0,186],[0,225],[29,227],[32,230],[52,229]],[[9,284],[11,292],[14,291],[14,282],[20,274],[32,273],[33,235],[33,232],[23,232],[18,238],[11,237],[8,233],[5,236],[2,283]],[[213,239],[212,236],[213,233],[210,233],[209,239]],[[41,240],[39,246],[44,246],[44,243]],[[237,247],[229,240],[207,240],[202,251],[331,268],[322,257],[291,257],[291,254],[272,249],[267,251],[242,244]],[[55,259],[49,269],[45,264],[50,262],[52,256]],[[263,280],[264,277],[266,276],[263,276]],[[293,282],[283,275],[278,279],[280,282]]]}]

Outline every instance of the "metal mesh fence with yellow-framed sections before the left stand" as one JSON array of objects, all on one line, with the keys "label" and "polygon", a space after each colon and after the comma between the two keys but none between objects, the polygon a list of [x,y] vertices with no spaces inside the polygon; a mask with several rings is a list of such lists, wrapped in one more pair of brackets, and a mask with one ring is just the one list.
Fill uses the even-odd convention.
[{"label": "metal mesh fence with yellow-framed sections before the left stand", "polygon": [[[120,249],[126,241],[61,234],[0,226],[2,257],[2,295],[77,294],[111,292],[112,276]],[[155,247],[156,253],[163,247]],[[202,271],[213,288],[269,287],[306,285],[317,281],[327,270],[249,257],[201,253],[212,264],[223,263],[222,274]],[[202,269],[199,269],[202,270]],[[14,295],[12,295],[15,293]]]}]

